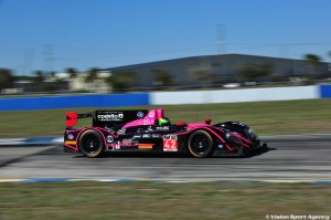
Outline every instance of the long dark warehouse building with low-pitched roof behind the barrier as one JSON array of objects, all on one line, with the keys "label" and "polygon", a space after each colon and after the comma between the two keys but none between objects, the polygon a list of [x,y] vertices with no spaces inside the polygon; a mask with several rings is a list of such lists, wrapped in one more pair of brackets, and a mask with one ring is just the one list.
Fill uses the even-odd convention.
[{"label": "long dark warehouse building with low-pitched roof behind the barrier", "polygon": [[288,81],[289,77],[305,77],[307,75],[329,75],[331,77],[328,63],[324,62],[311,66],[305,60],[242,54],[192,56],[109,67],[104,71],[110,71],[114,75],[127,72],[135,73],[137,87],[153,88],[162,85],[158,77],[160,73],[163,76],[168,75],[169,86],[194,87],[244,83],[252,81],[243,74],[244,71],[249,72],[249,67],[255,71],[263,67],[267,69],[269,73],[264,77],[254,80],[261,82]]}]

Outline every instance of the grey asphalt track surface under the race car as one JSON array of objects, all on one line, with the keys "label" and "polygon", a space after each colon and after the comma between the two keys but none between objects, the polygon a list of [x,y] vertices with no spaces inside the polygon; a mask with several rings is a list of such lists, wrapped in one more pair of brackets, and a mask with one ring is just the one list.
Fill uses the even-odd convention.
[{"label": "grey asphalt track surface under the race car", "polygon": [[85,158],[62,146],[0,146],[0,181],[92,179],[160,181],[331,180],[331,135],[265,137],[268,151],[196,159],[183,155],[115,154]]}]

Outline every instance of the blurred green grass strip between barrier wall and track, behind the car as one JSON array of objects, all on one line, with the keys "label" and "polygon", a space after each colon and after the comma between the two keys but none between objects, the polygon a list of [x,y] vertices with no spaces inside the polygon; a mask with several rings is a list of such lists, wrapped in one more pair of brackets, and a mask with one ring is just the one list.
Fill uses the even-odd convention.
[{"label": "blurred green grass strip between barrier wall and track, behind the car", "polygon": [[[137,106],[104,109],[164,108],[172,123],[213,123],[238,121],[253,126],[260,135],[330,134],[331,99],[303,99],[233,104]],[[67,108],[45,111],[1,112],[0,138],[62,136],[65,112],[86,113],[99,108]],[[92,119],[81,119],[77,126],[90,126]]]}]

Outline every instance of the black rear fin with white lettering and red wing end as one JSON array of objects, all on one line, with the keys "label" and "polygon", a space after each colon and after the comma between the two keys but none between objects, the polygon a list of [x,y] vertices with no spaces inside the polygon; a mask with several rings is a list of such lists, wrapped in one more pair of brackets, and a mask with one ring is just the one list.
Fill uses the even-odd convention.
[{"label": "black rear fin with white lettering and red wing end", "polygon": [[65,114],[66,127],[73,127],[77,124],[78,118],[92,117],[94,127],[113,127],[124,125],[135,119],[143,118],[148,114],[147,109],[137,111],[95,111],[90,113],[77,114],[67,112]]}]

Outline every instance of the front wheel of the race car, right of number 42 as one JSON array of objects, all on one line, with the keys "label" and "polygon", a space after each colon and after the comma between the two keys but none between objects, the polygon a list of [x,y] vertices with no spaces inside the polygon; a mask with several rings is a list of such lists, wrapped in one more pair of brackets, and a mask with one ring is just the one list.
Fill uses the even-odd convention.
[{"label": "front wheel of the race car, right of number 42", "polygon": [[211,157],[214,153],[214,143],[212,136],[205,130],[192,133],[188,140],[188,148],[193,157]]}]

